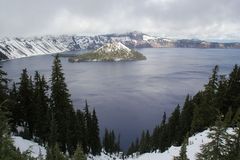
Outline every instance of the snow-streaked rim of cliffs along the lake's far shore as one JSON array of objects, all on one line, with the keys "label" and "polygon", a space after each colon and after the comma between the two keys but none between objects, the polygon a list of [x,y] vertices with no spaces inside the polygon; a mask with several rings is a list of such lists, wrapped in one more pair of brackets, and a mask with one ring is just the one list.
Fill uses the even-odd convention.
[{"label": "snow-streaked rim of cliffs along the lake's far shore", "polygon": [[174,40],[141,32],[98,36],[42,36],[0,39],[0,59],[14,59],[64,51],[97,49],[106,43],[121,42],[129,48],[240,48],[240,43],[216,43],[201,40]]}]

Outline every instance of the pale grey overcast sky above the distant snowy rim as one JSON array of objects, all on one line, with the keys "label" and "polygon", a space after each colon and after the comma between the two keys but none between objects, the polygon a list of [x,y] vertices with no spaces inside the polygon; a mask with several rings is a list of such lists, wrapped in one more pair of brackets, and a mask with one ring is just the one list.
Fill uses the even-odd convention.
[{"label": "pale grey overcast sky above the distant snowy rim", "polygon": [[0,0],[0,37],[135,30],[240,40],[240,0]]}]

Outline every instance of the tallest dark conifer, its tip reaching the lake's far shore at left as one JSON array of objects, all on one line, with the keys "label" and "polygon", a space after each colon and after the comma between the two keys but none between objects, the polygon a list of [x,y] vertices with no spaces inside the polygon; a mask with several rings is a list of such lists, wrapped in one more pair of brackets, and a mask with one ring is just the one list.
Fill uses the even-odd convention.
[{"label": "tallest dark conifer, its tip reaching the lake's far shore at left", "polygon": [[51,76],[51,107],[57,122],[57,141],[61,151],[66,152],[67,131],[69,124],[69,113],[72,112],[72,102],[70,94],[65,83],[64,73],[62,71],[59,56],[55,56],[52,66]]}]

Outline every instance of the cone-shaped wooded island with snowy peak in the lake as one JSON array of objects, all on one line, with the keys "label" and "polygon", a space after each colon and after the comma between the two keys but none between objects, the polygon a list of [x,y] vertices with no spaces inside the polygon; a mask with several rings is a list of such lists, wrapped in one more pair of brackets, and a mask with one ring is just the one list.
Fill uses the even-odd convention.
[{"label": "cone-shaped wooded island with snowy peak in the lake", "polygon": [[93,52],[77,55],[69,58],[69,62],[113,62],[113,61],[137,61],[146,57],[138,51],[129,49],[121,42],[112,42],[103,45]]}]

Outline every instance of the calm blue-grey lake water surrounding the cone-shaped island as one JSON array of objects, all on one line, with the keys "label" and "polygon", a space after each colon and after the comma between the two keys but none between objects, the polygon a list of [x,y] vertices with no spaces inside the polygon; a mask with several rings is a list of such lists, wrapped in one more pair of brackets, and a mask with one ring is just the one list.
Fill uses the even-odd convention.
[{"label": "calm blue-grey lake water surrounding the cone-shaped island", "polygon": [[[240,62],[234,49],[141,49],[146,61],[69,63],[61,58],[75,108],[87,99],[99,117],[101,131],[111,128],[121,134],[122,146],[152,129],[169,115],[185,96],[195,94],[219,65],[228,73]],[[36,56],[1,62],[8,77],[18,81],[27,68],[49,78],[53,57]]]}]

